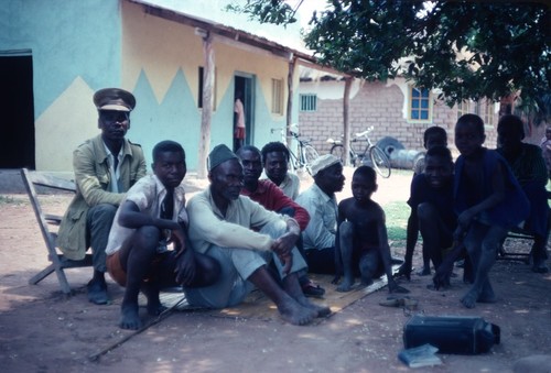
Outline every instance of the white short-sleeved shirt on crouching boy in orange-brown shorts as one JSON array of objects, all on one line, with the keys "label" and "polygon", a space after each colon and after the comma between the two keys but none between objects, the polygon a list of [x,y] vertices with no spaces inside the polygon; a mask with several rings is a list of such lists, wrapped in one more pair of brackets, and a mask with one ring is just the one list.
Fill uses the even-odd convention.
[{"label": "white short-sleeved shirt on crouching boy in orange-brown shorts", "polygon": [[[159,180],[156,175],[148,175],[138,180],[128,191],[120,204],[125,205],[127,200],[134,202],[141,212],[150,217],[161,217],[161,206],[166,196],[166,188]],[[108,255],[120,250],[125,240],[127,240],[134,231],[133,228],[126,228],[119,223],[120,206],[112,221],[109,240],[107,242],[106,253]],[[172,220],[187,226],[188,218],[185,209],[185,190],[182,185],[174,188],[174,215]]]}]

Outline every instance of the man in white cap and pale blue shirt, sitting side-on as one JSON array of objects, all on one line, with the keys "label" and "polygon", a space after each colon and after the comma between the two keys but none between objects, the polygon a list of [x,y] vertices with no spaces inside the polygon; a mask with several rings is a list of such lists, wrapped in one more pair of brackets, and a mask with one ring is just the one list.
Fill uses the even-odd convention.
[{"label": "man in white cap and pale blue shirt, sitting side-on", "polygon": [[296,202],[310,213],[310,223],[302,233],[304,253],[312,273],[338,274],[341,257],[336,256],[337,200],[345,177],[341,160],[332,154],[312,162],[314,184],[300,194]]}]

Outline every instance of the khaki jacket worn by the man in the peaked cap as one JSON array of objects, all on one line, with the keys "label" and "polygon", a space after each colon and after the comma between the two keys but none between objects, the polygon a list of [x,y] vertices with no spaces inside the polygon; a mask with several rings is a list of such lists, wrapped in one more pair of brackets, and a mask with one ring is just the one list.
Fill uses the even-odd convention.
[{"label": "khaki jacket worn by the man in the peaked cap", "polygon": [[[120,183],[128,190],[147,174],[145,158],[140,145],[125,140],[120,163]],[[101,135],[89,139],[73,152],[76,195],[60,226],[57,246],[71,260],[82,260],[88,249],[86,216],[99,204],[118,206],[123,193],[111,193],[111,175]]]}]

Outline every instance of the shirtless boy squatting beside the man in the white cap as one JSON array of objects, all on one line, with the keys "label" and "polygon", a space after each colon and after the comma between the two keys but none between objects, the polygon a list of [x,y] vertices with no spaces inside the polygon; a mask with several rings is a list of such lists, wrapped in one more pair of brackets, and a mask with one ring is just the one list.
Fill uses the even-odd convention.
[{"label": "shirtless boy squatting beside the man in the white cap", "polygon": [[371,200],[376,190],[375,171],[369,166],[360,166],[352,179],[354,197],[338,204],[336,250],[343,261],[344,279],[337,292],[349,292],[356,274],[360,275],[361,284],[367,286],[385,272],[390,293],[409,293],[398,286],[392,277],[385,211]]}]

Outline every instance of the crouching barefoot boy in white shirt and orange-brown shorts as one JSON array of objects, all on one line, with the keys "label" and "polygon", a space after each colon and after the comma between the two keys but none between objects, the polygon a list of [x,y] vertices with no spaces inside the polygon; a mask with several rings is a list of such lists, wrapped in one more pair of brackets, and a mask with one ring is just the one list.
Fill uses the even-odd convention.
[{"label": "crouching barefoot boy in white shirt and orange-brown shorts", "polygon": [[[139,329],[140,289],[148,298],[148,312],[164,310],[159,299],[163,287],[206,286],[216,282],[219,265],[194,253],[187,240],[187,212],[182,180],[186,174],[185,153],[173,141],[153,149],[153,173],[132,186],[120,204],[107,244],[107,268],[126,286],[119,326]],[[169,250],[169,243],[174,250]]]}]

